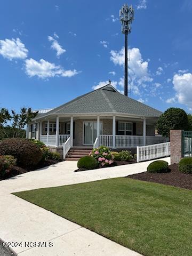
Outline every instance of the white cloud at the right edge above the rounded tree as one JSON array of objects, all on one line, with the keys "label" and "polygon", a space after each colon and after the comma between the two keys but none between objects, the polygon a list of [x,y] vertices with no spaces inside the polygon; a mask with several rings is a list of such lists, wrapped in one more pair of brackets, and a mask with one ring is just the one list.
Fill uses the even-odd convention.
[{"label": "white cloud at the right edge above the rounded tree", "polygon": [[173,76],[173,88],[175,99],[181,104],[192,107],[192,74],[175,74]]}]

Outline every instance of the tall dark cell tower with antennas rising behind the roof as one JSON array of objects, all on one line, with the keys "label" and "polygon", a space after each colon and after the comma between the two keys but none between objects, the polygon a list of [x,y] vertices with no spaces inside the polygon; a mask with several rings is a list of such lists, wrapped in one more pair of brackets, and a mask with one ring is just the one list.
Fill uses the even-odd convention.
[{"label": "tall dark cell tower with antennas rising behind the roof", "polygon": [[124,4],[119,10],[119,19],[122,23],[122,33],[125,35],[125,80],[124,80],[124,94],[128,96],[128,34],[131,33],[131,23],[134,19],[134,10],[132,5]]}]

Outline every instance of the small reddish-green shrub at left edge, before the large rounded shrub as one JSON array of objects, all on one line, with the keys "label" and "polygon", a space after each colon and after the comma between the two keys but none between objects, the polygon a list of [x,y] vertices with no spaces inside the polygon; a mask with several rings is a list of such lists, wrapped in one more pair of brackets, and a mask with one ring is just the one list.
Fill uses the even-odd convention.
[{"label": "small reddish-green shrub at left edge, before the large rounded shrub", "polygon": [[13,156],[0,156],[0,178],[3,178],[6,171],[16,165],[17,160]]}]

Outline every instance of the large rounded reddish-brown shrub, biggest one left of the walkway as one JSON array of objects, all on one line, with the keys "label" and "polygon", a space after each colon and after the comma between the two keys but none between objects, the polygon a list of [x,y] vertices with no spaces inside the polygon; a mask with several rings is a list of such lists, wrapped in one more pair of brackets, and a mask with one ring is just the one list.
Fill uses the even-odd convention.
[{"label": "large rounded reddish-brown shrub, biggest one left of the walkway", "polygon": [[22,167],[35,166],[42,159],[42,151],[34,143],[20,138],[3,140],[0,143],[0,155],[12,155]]}]

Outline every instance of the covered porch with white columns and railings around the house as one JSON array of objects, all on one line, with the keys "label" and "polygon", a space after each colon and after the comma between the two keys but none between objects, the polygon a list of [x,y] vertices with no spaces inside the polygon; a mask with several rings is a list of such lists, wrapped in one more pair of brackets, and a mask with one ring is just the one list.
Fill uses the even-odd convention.
[{"label": "covered porch with white columns and railings around the house", "polygon": [[46,146],[135,148],[168,141],[155,135],[155,118],[128,116],[57,116],[42,119],[27,129],[27,138]]}]

